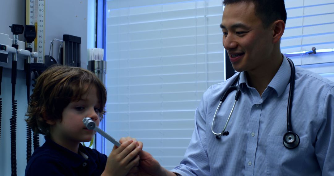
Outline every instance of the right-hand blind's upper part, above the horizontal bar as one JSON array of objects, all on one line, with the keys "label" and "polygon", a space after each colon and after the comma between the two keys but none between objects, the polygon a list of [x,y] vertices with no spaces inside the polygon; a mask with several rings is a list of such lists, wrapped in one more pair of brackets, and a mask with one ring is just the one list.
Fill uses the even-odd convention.
[{"label": "right-hand blind's upper part, above the horizontal bar", "polygon": [[333,0],[285,0],[288,13],[283,53],[334,48]]}]

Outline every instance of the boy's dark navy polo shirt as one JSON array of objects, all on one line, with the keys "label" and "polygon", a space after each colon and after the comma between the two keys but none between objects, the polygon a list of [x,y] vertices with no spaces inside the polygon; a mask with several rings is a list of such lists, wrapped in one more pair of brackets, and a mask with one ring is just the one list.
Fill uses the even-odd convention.
[{"label": "boy's dark navy polo shirt", "polygon": [[34,150],[25,169],[25,176],[101,176],[107,155],[81,144],[79,151],[87,155],[88,159],[45,137],[45,143]]}]

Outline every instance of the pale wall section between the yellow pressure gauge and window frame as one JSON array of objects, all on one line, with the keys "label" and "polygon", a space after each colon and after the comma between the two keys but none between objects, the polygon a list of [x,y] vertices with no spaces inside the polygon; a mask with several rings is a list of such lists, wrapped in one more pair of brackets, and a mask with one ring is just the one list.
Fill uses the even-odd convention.
[{"label": "pale wall section between the yellow pressure gauge and window frame", "polygon": [[[81,37],[81,67],[87,68],[87,4],[83,0],[45,2],[45,54],[49,53],[54,38],[62,40],[63,34],[78,36]],[[54,45],[55,57],[58,48]]]}]

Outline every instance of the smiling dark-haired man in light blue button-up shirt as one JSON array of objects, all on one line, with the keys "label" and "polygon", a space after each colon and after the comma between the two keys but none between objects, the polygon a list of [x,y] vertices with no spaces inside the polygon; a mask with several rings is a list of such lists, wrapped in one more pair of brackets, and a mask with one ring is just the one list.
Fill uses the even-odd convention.
[{"label": "smiling dark-haired man in light blue button-up shirt", "polygon": [[[334,83],[302,68],[293,72],[281,54],[287,19],[284,1],[224,0],[223,4],[223,46],[233,68],[241,72],[235,83],[240,97],[226,126],[229,134],[217,139],[212,131],[223,130],[236,91],[226,97],[212,123],[222,94],[238,74],[204,93],[180,165],[167,171],[142,151],[138,175],[334,175]],[[288,131],[291,75],[295,85],[290,130],[299,141],[288,148],[283,138]]]}]

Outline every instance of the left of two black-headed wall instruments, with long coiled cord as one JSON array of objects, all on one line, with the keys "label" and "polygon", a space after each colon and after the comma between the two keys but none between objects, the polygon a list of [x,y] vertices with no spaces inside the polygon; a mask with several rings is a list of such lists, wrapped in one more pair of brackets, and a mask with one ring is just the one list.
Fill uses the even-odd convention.
[{"label": "left of two black-headed wall instruments, with long coiled cord", "polygon": [[16,48],[16,52],[12,54],[12,118],[10,118],[10,159],[11,159],[11,169],[12,176],[16,176],[16,111],[17,111],[17,101],[15,100],[15,85],[16,85],[16,75],[17,75],[17,50],[18,45],[18,35],[23,33],[23,25],[12,24],[9,26],[11,32],[13,33],[13,44],[12,47]]}]

